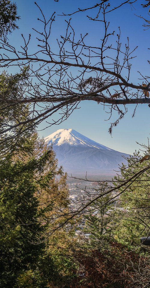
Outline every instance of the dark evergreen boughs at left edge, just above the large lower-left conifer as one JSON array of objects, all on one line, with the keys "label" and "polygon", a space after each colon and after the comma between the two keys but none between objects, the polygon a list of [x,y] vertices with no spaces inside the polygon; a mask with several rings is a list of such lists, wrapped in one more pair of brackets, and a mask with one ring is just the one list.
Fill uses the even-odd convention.
[{"label": "dark evergreen boughs at left edge, just above the large lower-left conifer", "polygon": [[[29,77],[28,67],[23,67],[20,73],[14,75],[8,74],[3,71],[0,75],[0,98],[3,99],[4,103],[1,105],[0,109],[0,132],[2,127],[7,127],[9,123],[13,130],[16,130],[17,137],[13,138],[9,129],[6,129],[5,133],[0,135],[1,143],[1,156],[5,153],[13,152],[17,149],[22,151],[27,151],[30,147],[28,145],[28,139],[30,138],[31,133],[34,133],[35,128],[26,123],[22,128],[18,126],[15,128],[16,124],[22,123],[22,121],[27,120],[29,115],[29,106],[25,103],[12,104],[12,101],[20,99],[24,95],[23,86],[26,86],[26,80]],[[6,99],[9,99],[9,105],[7,104]],[[6,109],[7,107],[7,109]],[[20,136],[20,131],[22,135]],[[6,138],[9,138],[8,143],[6,144]],[[27,149],[27,150],[26,150]]]}]

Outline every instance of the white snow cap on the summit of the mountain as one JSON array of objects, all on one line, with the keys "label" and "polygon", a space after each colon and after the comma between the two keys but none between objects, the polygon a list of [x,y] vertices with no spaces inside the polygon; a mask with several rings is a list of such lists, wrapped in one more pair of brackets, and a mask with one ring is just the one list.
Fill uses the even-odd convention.
[{"label": "white snow cap on the summit of the mountain", "polygon": [[104,150],[112,150],[107,148],[88,137],[83,136],[82,134],[78,133],[73,129],[59,129],[56,132],[52,133],[51,135],[45,138],[45,141],[48,145],[56,145],[60,146],[62,144],[69,144],[69,145],[82,145],[82,146],[91,146],[97,149],[104,149]]}]

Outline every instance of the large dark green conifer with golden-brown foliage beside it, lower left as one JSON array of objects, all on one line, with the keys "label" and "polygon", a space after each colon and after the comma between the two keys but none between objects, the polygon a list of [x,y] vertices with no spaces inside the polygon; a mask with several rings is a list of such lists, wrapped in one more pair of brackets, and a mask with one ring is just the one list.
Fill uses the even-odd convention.
[{"label": "large dark green conifer with golden-brown foliage beside it, lower left", "polygon": [[64,191],[67,195],[65,175],[52,148],[37,134],[27,143],[28,152],[16,149],[0,163],[1,288],[44,288],[57,275],[46,238],[54,210],[60,216],[67,205],[61,199]]}]

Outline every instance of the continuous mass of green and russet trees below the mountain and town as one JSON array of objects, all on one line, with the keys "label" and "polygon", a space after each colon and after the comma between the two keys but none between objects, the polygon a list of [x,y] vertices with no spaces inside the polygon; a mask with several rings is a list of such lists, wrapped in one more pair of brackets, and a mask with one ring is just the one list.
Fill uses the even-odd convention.
[{"label": "continuous mass of green and russet trees below the mountain and town", "polygon": [[[101,217],[85,216],[90,237],[75,238],[79,217],[68,220],[66,176],[52,148],[36,133],[22,142],[0,163],[0,287],[148,287],[149,248],[139,244],[149,235],[149,170],[121,194],[124,211],[112,208],[111,194],[95,200]],[[122,177],[149,165],[136,159]]]}]

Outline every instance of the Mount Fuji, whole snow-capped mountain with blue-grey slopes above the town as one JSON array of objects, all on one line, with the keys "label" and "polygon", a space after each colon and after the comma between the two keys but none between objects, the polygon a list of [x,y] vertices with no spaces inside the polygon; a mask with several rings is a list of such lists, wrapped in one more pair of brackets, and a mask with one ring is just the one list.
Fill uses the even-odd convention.
[{"label": "Mount Fuji, whole snow-capped mountain with blue-grey slopes above the town", "polygon": [[[56,153],[58,164],[73,176],[114,176],[130,155],[101,145],[73,129],[59,129],[45,138]],[[124,157],[125,158],[124,158]]]}]

